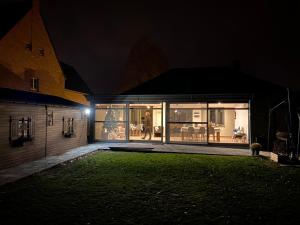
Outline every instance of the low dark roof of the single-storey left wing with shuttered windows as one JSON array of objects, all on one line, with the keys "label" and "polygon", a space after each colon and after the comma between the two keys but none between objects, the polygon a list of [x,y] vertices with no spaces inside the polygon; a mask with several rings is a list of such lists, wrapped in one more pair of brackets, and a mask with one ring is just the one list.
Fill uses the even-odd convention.
[{"label": "low dark roof of the single-storey left wing with shuttered windows", "polygon": [[0,101],[64,106],[84,106],[57,96],[45,95],[37,92],[19,91],[8,88],[0,88]]}]

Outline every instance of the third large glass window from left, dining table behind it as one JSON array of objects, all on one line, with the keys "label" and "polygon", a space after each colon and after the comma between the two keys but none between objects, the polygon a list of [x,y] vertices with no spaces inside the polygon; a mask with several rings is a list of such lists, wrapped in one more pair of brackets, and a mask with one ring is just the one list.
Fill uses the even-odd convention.
[{"label": "third large glass window from left, dining table behind it", "polygon": [[170,104],[170,142],[206,142],[207,104]]}]

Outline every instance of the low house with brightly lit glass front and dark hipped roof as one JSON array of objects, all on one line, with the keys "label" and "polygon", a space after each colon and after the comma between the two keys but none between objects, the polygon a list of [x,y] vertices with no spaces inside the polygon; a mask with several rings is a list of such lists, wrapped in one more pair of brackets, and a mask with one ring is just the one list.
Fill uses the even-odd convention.
[{"label": "low house with brightly lit glass front and dark hipped roof", "polygon": [[[120,95],[95,95],[95,141],[266,146],[269,108],[283,87],[236,66],[177,68]],[[151,138],[142,134],[146,112]]]}]

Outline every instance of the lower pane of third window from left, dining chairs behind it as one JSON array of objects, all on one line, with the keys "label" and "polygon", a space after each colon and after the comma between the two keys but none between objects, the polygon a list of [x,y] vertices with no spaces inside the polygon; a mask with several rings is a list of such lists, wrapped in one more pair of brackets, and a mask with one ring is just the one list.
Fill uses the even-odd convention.
[{"label": "lower pane of third window from left, dining chairs behind it", "polygon": [[207,142],[205,124],[169,123],[169,129],[171,142]]}]

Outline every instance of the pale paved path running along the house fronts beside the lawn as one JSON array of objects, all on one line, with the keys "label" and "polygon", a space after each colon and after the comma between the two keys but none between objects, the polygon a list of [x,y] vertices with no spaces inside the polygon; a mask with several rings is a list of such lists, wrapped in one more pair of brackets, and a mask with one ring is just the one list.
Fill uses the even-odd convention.
[{"label": "pale paved path running along the house fronts beside the lawn", "polygon": [[250,156],[249,149],[210,147],[210,146],[192,146],[192,145],[174,145],[174,144],[151,144],[151,143],[96,143],[69,150],[59,156],[49,156],[40,160],[25,163],[17,167],[0,170],[0,185],[14,182],[32,174],[49,169],[53,166],[67,162],[86,154],[102,150],[110,151],[110,147],[126,148],[126,151],[137,151],[146,149],[151,152],[166,153],[193,153],[209,155],[236,155]]}]

